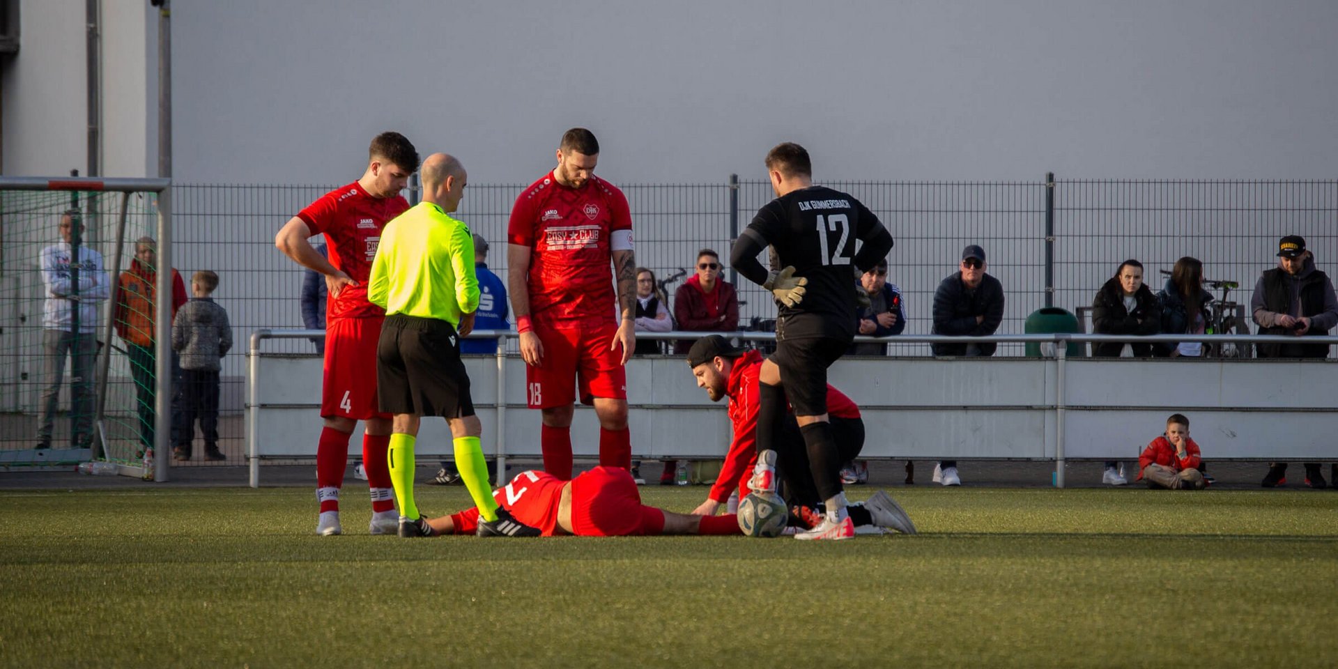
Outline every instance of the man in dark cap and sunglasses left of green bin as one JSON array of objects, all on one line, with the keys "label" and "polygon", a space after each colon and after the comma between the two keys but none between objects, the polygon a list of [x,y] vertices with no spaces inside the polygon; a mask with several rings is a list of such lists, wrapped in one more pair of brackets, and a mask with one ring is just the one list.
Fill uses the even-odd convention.
[{"label": "man in dark cap and sunglasses left of green bin", "polygon": [[[985,249],[971,244],[962,249],[957,272],[934,290],[934,334],[985,337],[1004,322],[1004,284],[986,270]],[[998,344],[934,344],[935,356],[993,356]],[[934,466],[934,483],[961,486],[957,460]]]}]

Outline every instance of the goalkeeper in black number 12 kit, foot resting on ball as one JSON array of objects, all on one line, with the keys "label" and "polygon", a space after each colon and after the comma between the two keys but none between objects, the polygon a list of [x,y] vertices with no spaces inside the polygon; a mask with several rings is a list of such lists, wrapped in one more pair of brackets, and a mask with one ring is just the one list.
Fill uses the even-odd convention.
[{"label": "goalkeeper in black number 12 kit, foot resting on ball", "polygon": [[[761,365],[757,415],[757,468],[752,487],[773,491],[772,450],[785,419],[787,401],[804,436],[814,484],[826,500],[826,518],[799,539],[847,539],[855,526],[840,482],[840,454],[827,419],[827,368],[855,337],[855,277],[878,265],[892,248],[892,235],[858,199],[814,186],[804,147],[785,142],[767,154],[776,199],[757,211],[739,235],[731,264],[749,281],[772,292],[780,308],[776,352]],[[855,252],[855,240],[863,244]],[[757,254],[773,249],[777,269],[768,272]]]}]

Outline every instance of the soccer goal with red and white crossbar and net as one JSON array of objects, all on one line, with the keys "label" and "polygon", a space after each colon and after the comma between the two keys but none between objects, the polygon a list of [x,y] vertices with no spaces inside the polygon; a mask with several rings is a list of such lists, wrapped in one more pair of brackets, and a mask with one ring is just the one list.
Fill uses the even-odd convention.
[{"label": "soccer goal with red and white crossbar and net", "polygon": [[[0,177],[0,470],[96,459],[167,480],[173,273],[149,300],[122,294],[140,237],[171,268],[171,179]],[[143,336],[118,336],[127,321]]]}]

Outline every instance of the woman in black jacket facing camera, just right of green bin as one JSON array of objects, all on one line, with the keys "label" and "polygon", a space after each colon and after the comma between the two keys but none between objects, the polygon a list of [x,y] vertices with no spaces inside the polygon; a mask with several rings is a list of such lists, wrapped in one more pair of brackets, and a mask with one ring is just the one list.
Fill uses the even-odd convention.
[{"label": "woman in black jacket facing camera, just right of green bin", "polygon": [[[1143,282],[1143,264],[1127,260],[1120,264],[1092,301],[1092,332],[1097,334],[1156,334],[1161,330],[1161,305],[1152,289]],[[1092,345],[1096,357],[1148,357],[1152,344],[1112,341]],[[1124,486],[1120,463],[1108,460],[1103,483]]]}]

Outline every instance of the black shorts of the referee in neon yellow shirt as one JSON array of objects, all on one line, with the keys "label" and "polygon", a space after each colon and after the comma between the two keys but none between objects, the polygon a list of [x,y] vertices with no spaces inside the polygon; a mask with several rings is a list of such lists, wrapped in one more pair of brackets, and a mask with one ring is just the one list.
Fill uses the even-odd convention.
[{"label": "black shorts of the referee in neon yellow shirt", "polygon": [[387,413],[472,416],[470,375],[455,328],[438,318],[387,316],[376,345],[376,392]]}]

